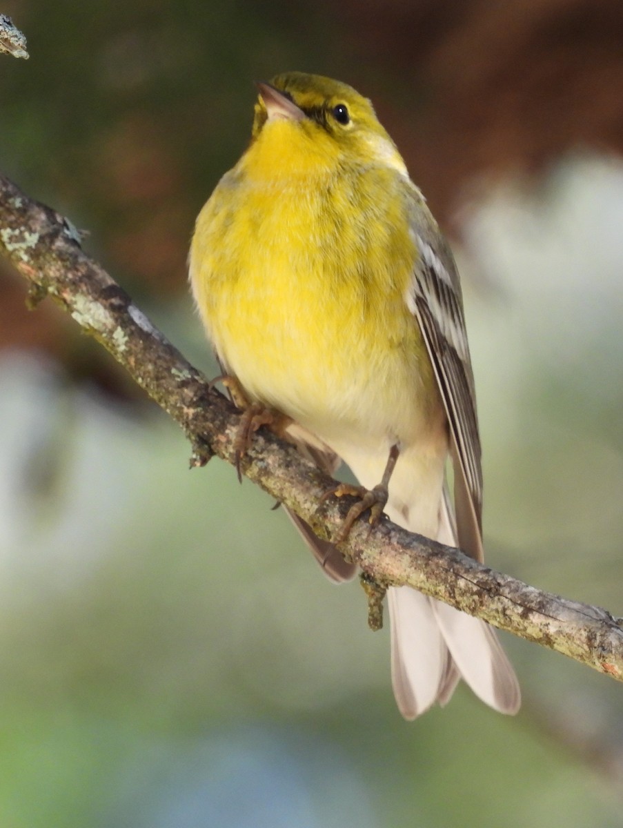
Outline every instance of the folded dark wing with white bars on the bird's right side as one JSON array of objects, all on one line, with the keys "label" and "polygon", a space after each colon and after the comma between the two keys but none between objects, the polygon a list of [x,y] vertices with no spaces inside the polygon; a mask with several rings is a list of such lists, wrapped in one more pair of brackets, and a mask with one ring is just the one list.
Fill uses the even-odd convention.
[{"label": "folded dark wing with white bars on the bird's right side", "polygon": [[458,542],[482,561],[481,440],[461,285],[452,252],[415,186],[408,205],[418,258],[407,304],[422,330],[450,426]]}]

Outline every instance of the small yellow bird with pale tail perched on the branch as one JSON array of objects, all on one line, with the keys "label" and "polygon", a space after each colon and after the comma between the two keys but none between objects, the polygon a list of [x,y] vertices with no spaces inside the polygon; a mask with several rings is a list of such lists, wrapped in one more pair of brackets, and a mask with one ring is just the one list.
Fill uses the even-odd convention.
[{"label": "small yellow bird with pale tail perched on the branch", "polygon": [[[220,363],[254,411],[292,418],[307,456],[328,470],[344,460],[371,490],[349,524],[385,506],[398,525],[481,561],[481,445],[452,253],[369,100],[300,72],[258,87],[249,149],[191,245],[192,290]],[[353,575],[294,520],[333,580]],[[405,718],[445,704],[460,677],[495,710],[519,709],[487,624],[408,587],[389,590],[389,615]]]}]

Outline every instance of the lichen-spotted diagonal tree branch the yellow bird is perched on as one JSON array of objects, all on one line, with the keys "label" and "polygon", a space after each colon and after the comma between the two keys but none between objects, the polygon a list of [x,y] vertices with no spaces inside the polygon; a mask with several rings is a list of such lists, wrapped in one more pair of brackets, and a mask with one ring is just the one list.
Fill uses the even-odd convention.
[{"label": "lichen-spotted diagonal tree branch the yellow bird is perched on", "polygon": [[[193,445],[191,465],[203,465],[211,455],[233,463],[239,414],[231,403],[209,388],[128,294],[85,255],[67,219],[28,199],[2,176],[0,250],[29,282],[31,306],[51,296],[181,426]],[[348,498],[321,503],[334,481],[292,445],[258,431],[242,471],[303,517],[319,537],[335,537]],[[605,609],[537,590],[387,519],[371,532],[365,522],[356,522],[343,551],[381,585],[412,586],[623,681],[623,621]]]}]

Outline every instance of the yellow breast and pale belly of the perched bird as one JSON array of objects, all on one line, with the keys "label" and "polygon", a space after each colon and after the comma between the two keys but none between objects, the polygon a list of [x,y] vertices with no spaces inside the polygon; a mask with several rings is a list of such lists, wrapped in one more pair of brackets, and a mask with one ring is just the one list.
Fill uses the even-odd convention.
[{"label": "yellow breast and pale belly of the perched bird", "polygon": [[417,253],[403,176],[321,155],[302,168],[292,136],[275,146],[281,128],[197,220],[191,282],[210,339],[252,397],[329,442],[413,437],[439,402],[405,303]]}]

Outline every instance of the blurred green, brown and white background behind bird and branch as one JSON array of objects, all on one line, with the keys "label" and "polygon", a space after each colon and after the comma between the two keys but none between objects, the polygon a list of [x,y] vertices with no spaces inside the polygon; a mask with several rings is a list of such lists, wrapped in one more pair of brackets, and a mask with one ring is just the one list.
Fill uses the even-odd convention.
[{"label": "blurred green, brown and white background behind bird and branch", "polygon": [[[0,168],[215,373],[192,224],[254,79],[374,101],[452,237],[489,561],[623,614],[620,2],[7,0]],[[620,826],[623,688],[505,637],[512,720],[400,719],[386,631],[283,514],[0,273],[0,828]],[[47,304],[47,303],[46,303]]]}]

